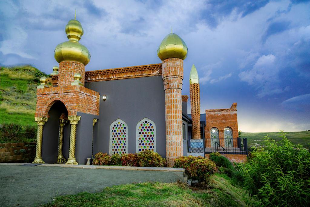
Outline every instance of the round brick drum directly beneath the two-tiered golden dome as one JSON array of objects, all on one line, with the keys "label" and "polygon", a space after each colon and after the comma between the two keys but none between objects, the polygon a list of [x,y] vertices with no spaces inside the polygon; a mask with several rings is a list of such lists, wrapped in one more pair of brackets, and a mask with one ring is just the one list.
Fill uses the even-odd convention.
[{"label": "round brick drum directly beneath the two-tiered golden dome", "polygon": [[85,65],[77,61],[61,61],[59,63],[58,71],[58,86],[71,85],[74,81],[74,74],[80,73],[82,75],[81,82],[85,82]]}]

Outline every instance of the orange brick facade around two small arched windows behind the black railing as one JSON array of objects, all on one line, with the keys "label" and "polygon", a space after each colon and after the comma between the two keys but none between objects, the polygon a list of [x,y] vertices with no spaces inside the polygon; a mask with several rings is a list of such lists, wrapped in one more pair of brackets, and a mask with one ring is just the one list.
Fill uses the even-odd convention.
[{"label": "orange brick facade around two small arched windows behind the black railing", "polygon": [[[233,146],[237,146],[238,137],[238,120],[237,120],[237,103],[233,103],[229,109],[211,109],[206,110],[206,128],[205,137],[206,139],[212,138],[210,136],[210,130],[212,127],[216,127],[219,130],[219,138],[227,138],[224,136],[224,130],[232,129]],[[226,133],[228,135],[228,132]],[[224,139],[221,146],[225,146]],[[206,142],[206,147],[210,147],[211,143]]]}]

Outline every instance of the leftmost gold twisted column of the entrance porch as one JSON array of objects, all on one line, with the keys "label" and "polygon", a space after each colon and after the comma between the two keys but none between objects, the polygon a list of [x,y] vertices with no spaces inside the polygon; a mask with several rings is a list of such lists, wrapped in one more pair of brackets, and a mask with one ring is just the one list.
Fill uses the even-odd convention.
[{"label": "leftmost gold twisted column of the entrance porch", "polygon": [[47,117],[35,117],[34,120],[38,123],[37,133],[37,146],[36,146],[36,157],[32,163],[44,164],[42,160],[42,139],[43,139],[43,126],[47,122]]}]

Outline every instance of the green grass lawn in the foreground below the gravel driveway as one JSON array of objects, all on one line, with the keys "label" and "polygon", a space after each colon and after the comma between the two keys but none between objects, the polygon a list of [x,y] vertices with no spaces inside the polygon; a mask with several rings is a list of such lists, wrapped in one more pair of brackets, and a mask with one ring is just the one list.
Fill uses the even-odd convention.
[{"label": "green grass lawn in the foreground below the gravel driveway", "polygon": [[98,193],[59,196],[44,206],[246,206],[250,198],[224,174],[210,177],[209,185],[146,182],[106,187]]}]

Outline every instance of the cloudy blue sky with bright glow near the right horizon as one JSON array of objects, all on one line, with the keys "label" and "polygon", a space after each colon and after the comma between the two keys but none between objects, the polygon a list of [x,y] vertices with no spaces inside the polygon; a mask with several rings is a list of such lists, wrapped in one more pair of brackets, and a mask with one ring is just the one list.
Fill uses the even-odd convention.
[{"label": "cloudy blue sky with bright glow near the right horizon", "polygon": [[[86,70],[160,63],[171,31],[188,46],[200,78],[201,112],[238,103],[244,132],[310,130],[310,2],[0,1],[0,63],[51,73],[65,25],[82,23]],[[190,112],[189,112],[190,113]]]}]

